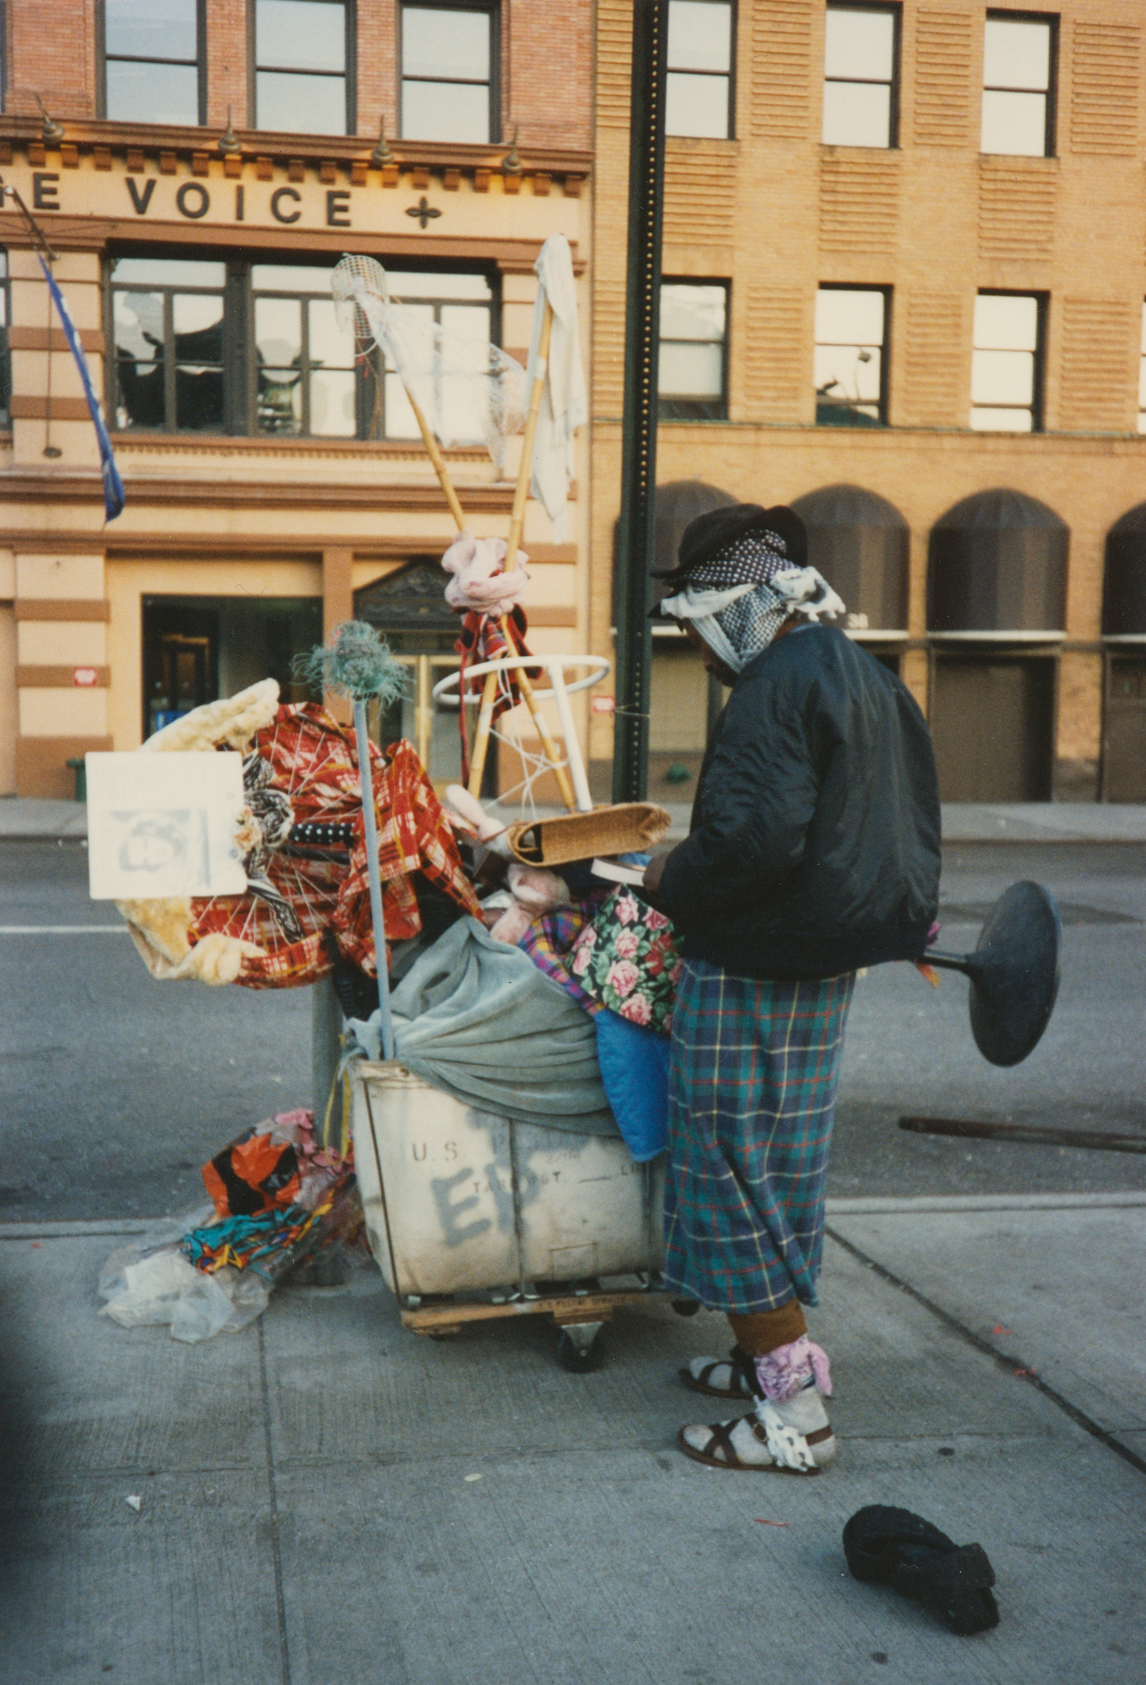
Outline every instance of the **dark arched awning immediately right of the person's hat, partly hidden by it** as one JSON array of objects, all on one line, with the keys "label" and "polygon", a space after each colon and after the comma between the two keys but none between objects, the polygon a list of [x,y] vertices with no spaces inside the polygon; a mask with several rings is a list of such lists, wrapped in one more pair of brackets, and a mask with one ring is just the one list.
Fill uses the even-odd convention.
[{"label": "dark arched awning immediately right of the person's hat, partly hidden by it", "polygon": [[860,485],[826,485],[797,497],[807,559],[839,591],[849,630],[907,632],[907,521]]}]

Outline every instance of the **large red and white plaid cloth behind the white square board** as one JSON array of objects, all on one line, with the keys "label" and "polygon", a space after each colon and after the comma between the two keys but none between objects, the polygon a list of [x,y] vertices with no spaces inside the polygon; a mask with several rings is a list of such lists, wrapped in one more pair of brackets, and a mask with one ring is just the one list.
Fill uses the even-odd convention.
[{"label": "large red and white plaid cloth behind the white square board", "polygon": [[[243,960],[236,979],[249,989],[292,989],[325,977],[334,969],[327,932],[349,960],[374,976],[354,728],[340,726],[313,703],[283,706],[253,746],[271,767],[271,787],[290,800],[295,824],[349,824],[354,841],[349,856],[344,849],[293,851],[290,844],[270,856],[266,878],[290,903],[302,940],[288,940],[271,905],[249,891],[192,900],[189,940],[217,930],[263,949],[261,955]],[[391,743],[383,755],[371,743],[371,770],[388,940],[401,942],[421,930],[411,871],[423,871],[460,908],[477,915],[479,901],[462,869],[453,831],[413,745]]]}]

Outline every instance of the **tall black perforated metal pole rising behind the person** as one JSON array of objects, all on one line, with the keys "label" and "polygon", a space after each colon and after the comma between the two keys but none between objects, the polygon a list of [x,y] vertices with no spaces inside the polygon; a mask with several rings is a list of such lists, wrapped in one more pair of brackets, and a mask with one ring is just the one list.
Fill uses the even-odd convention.
[{"label": "tall black perforated metal pole rising behind the person", "polygon": [[617,718],[613,800],[639,802],[649,784],[649,570],[657,484],[661,211],[669,0],[635,0],[629,135],[629,278],[625,413],[617,532]]}]

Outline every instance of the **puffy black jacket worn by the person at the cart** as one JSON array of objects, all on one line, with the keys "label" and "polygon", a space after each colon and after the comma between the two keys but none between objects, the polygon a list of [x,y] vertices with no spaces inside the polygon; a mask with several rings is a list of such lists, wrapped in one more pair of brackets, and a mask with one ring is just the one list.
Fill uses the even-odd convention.
[{"label": "puffy black jacket worn by the person at the cart", "polygon": [[684,954],[738,976],[918,959],[939,905],[939,787],[895,674],[829,625],[750,661],[656,901]]}]

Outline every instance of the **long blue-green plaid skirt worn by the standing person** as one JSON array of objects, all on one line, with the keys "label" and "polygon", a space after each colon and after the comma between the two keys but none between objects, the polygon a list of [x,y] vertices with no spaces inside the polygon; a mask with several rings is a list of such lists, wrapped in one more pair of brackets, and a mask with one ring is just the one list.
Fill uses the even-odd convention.
[{"label": "long blue-green plaid skirt worn by the standing person", "polygon": [[854,974],[736,977],[686,959],[672,1016],[664,1274],[715,1311],[816,1304]]}]

